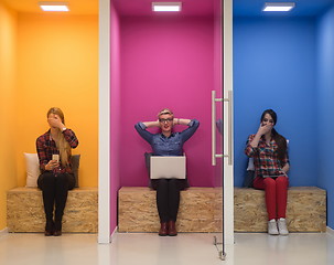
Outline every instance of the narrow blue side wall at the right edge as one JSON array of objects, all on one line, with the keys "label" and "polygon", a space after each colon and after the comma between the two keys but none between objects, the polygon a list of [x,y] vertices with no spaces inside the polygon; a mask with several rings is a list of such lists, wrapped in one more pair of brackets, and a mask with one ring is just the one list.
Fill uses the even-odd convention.
[{"label": "narrow blue side wall at the right edge", "polygon": [[327,191],[327,226],[334,229],[334,7],[317,23],[319,178]]}]

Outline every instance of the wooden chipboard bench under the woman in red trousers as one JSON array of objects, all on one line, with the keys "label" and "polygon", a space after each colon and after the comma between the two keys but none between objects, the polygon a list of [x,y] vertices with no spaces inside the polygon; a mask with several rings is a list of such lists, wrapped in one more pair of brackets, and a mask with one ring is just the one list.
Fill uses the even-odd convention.
[{"label": "wooden chipboard bench under the woman in red trousers", "polygon": [[[265,191],[235,188],[235,231],[267,232]],[[316,187],[288,190],[287,223],[290,232],[326,231],[326,191]]]}]

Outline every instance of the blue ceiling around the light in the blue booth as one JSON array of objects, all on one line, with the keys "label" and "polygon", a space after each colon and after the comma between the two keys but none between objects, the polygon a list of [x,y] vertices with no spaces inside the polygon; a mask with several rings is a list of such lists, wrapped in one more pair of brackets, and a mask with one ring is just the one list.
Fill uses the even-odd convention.
[{"label": "blue ceiling around the light in the blue booth", "polygon": [[[295,7],[290,12],[262,12],[265,2],[295,2]],[[235,17],[316,17],[334,6],[334,0],[233,0]]]}]

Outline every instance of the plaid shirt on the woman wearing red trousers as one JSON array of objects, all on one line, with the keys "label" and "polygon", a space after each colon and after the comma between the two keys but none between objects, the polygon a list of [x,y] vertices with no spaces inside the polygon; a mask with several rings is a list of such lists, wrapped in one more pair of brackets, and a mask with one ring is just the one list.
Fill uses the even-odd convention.
[{"label": "plaid shirt on the woman wearing red trousers", "polygon": [[248,157],[254,158],[254,166],[256,176],[260,177],[281,177],[287,176],[282,168],[285,163],[289,163],[288,152],[284,159],[281,161],[278,159],[278,145],[271,138],[269,145],[267,145],[265,136],[260,138],[259,145],[257,147],[251,147],[250,142],[254,140],[255,135],[248,137],[245,153]]}]

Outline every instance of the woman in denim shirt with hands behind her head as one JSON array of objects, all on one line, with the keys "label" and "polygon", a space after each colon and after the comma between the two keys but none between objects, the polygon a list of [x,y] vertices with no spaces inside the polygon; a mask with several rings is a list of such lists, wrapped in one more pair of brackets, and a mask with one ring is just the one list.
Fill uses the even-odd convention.
[{"label": "woman in denim shirt with hands behind her head", "polygon": [[[158,120],[144,121],[134,125],[138,134],[147,140],[153,150],[153,156],[183,156],[183,145],[190,139],[200,126],[196,119],[174,118],[174,114],[164,108],[158,114]],[[173,132],[174,125],[186,125],[187,129]],[[151,134],[147,128],[160,127],[160,134]],[[187,181],[181,179],[152,180],[152,188],[157,190],[157,206],[160,218],[160,236],[175,236],[176,216],[180,204],[180,191],[187,188]]]}]

